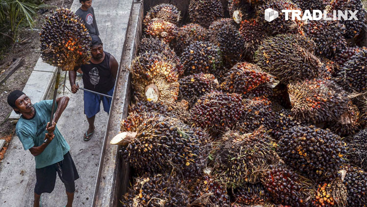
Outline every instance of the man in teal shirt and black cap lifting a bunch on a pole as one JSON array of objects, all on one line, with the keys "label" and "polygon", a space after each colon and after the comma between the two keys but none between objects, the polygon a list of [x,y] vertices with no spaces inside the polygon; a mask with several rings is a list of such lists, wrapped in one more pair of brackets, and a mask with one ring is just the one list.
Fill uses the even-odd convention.
[{"label": "man in teal shirt and black cap lifting a bunch on a pole", "polygon": [[[68,204],[72,207],[75,183],[79,178],[74,162],[69,153],[70,147],[56,123],[69,103],[69,97],[56,99],[56,111],[52,124],[52,100],[32,104],[22,91],[15,90],[8,95],[9,105],[14,111],[22,114],[16,126],[16,133],[36,160],[36,186],[34,188],[34,207],[40,206],[42,193],[51,193],[55,187],[56,172],[66,187]],[[45,141],[46,140],[46,141]]]}]

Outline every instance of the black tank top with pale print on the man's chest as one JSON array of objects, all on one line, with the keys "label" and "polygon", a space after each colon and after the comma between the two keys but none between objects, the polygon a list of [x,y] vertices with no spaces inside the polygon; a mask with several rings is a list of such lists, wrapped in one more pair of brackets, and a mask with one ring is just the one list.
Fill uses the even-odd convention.
[{"label": "black tank top with pale print on the man's chest", "polygon": [[110,69],[111,54],[108,52],[104,53],[105,58],[101,63],[94,64],[89,61],[89,64],[81,66],[84,88],[99,93],[106,93],[114,87],[115,78],[112,76]]}]

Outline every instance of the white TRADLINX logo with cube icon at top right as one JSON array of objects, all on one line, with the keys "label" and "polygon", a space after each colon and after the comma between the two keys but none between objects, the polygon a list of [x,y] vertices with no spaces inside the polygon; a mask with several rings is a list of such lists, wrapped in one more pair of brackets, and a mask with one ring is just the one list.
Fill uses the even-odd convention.
[{"label": "white TRADLINX logo with cube icon at top right", "polygon": [[[282,10],[282,13],[284,13],[284,19],[285,20],[302,20],[302,21],[306,21],[306,20],[326,20],[326,21],[330,21],[330,20],[358,20],[357,18],[357,13],[358,10],[356,11],[351,11],[351,10],[345,10],[345,11],[336,11],[334,10],[332,12],[332,15],[330,12],[326,11],[326,10],[313,10],[312,13],[310,12],[310,10],[305,10],[303,12],[302,15],[302,11],[300,10],[288,10],[288,9],[284,9]],[[279,12],[275,11],[272,8],[267,8],[265,9],[265,20],[268,22],[271,22],[273,20],[275,20],[276,18],[279,17]]]}]

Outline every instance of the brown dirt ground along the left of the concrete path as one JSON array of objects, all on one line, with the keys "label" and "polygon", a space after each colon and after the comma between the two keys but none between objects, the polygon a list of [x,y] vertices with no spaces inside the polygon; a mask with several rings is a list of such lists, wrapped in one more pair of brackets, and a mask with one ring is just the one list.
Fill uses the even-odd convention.
[{"label": "brown dirt ground along the left of the concrete path", "polygon": [[49,15],[55,8],[70,8],[72,0],[45,0],[44,3],[48,7],[38,11],[33,30],[24,28],[20,33],[19,42],[9,48],[9,51],[0,62],[1,74],[12,63],[13,58],[24,58],[23,66],[18,68],[5,83],[0,85],[0,139],[6,140],[4,148],[0,151],[0,160],[6,151],[11,135],[15,129],[15,126],[7,120],[12,111],[6,101],[7,96],[13,90],[22,90],[24,88],[25,83],[32,73],[33,67],[40,57],[39,33],[44,24],[45,16]]}]

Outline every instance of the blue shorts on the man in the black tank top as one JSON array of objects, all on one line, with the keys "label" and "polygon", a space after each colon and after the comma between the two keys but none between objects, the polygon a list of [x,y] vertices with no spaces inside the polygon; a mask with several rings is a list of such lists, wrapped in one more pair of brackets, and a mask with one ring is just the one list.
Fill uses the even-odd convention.
[{"label": "blue shorts on the man in the black tank top", "polygon": [[[114,88],[112,88],[107,95],[112,96],[114,94]],[[88,118],[96,115],[100,110],[101,101],[103,103],[103,109],[107,113],[110,112],[112,99],[109,97],[97,95],[89,91],[84,91],[84,114]]]}]

